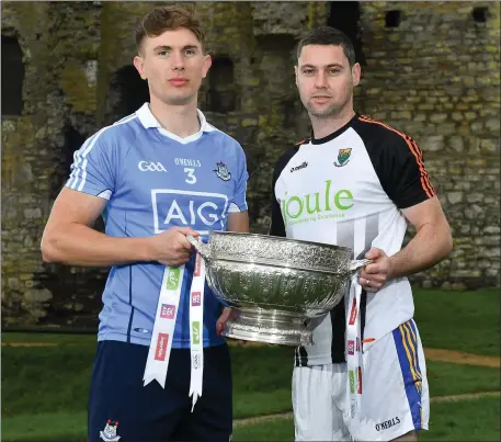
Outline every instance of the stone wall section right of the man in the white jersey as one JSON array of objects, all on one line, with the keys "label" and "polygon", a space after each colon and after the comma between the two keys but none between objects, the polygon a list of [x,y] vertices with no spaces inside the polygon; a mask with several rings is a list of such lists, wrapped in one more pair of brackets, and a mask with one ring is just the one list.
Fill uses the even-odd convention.
[{"label": "stone wall section right of the man in the white jersey", "polygon": [[[487,22],[477,23],[472,9],[482,7]],[[387,8],[401,9],[399,27],[385,27]],[[414,283],[499,285],[500,4],[367,2],[362,11],[358,103],[423,149],[454,237],[449,259]]]}]

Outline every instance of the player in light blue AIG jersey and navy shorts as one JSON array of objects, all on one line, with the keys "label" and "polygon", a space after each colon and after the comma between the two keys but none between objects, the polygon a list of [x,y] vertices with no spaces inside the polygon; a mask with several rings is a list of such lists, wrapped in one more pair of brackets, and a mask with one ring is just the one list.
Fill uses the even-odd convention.
[{"label": "player in light blue AIG jersey and navy shorts", "polygon": [[[249,231],[246,157],[197,110],[210,57],[195,15],[156,8],[136,43],[150,103],[75,154],[43,258],[112,268],[88,441],[229,440],[231,369],[220,331],[230,311],[221,315],[186,235]],[[91,227],[101,214],[104,234]]]}]

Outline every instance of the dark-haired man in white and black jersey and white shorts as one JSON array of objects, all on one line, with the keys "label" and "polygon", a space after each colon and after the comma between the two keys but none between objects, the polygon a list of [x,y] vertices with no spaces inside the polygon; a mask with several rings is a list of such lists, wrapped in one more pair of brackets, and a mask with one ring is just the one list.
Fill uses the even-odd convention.
[{"label": "dark-haired man in white and black jersey and white shorts", "polygon": [[[296,350],[296,440],[415,440],[430,398],[407,276],[451,252],[449,226],[415,141],[353,110],[361,67],[350,39],[317,29],[297,58],[312,134],[275,166],[270,234],[374,261],[315,329],[314,344]],[[417,234],[402,248],[407,222]]]}]

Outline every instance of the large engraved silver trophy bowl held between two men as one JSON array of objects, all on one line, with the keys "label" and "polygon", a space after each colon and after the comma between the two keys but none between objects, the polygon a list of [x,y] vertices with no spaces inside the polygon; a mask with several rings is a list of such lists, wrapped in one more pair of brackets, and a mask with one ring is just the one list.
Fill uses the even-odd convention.
[{"label": "large engraved silver trophy bowl held between two men", "polygon": [[372,260],[351,260],[351,249],[269,235],[214,230],[207,243],[186,239],[206,263],[207,284],[237,316],[224,336],[305,345],[343,298],[350,277]]}]

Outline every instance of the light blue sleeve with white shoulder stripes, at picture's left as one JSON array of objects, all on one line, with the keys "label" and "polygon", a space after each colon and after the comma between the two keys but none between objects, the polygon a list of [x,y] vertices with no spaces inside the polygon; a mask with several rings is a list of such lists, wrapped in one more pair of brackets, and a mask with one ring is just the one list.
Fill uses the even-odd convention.
[{"label": "light blue sleeve with white shoulder stripes, at picture's left", "polygon": [[110,200],[115,191],[113,145],[111,137],[103,132],[94,134],[73,154],[66,186]]}]

